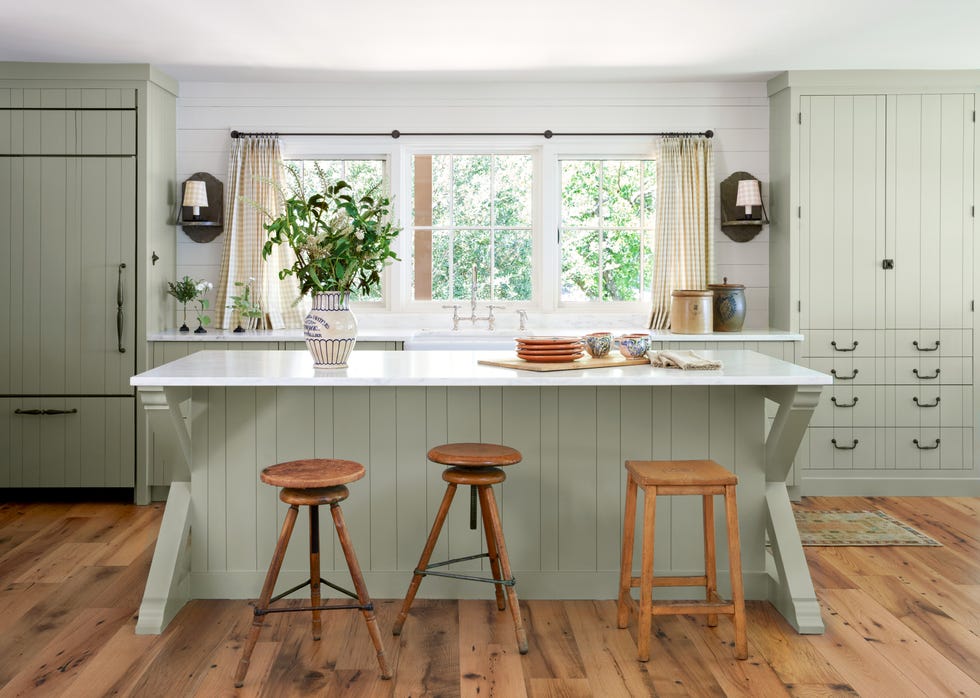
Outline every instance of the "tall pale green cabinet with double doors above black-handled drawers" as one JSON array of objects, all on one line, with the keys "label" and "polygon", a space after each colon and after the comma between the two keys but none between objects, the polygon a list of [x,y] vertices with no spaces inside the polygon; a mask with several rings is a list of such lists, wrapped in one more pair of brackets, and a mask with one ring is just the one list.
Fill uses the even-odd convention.
[{"label": "tall pale green cabinet with double doors above black-handled drawers", "polygon": [[980,73],[769,83],[772,323],[834,376],[802,494],[980,493],[974,359]]}]

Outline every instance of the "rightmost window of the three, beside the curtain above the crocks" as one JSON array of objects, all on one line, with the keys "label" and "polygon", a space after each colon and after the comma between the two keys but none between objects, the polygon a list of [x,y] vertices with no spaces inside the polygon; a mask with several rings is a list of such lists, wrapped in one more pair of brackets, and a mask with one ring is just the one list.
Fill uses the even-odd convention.
[{"label": "rightmost window of the three, beside the curtain above the crocks", "polygon": [[649,300],[655,161],[564,159],[559,166],[561,302]]}]

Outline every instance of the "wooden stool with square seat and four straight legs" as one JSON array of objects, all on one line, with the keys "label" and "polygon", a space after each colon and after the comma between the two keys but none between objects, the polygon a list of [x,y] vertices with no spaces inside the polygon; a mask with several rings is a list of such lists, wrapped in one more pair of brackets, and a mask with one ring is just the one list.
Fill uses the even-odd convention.
[{"label": "wooden stool with square seat and four straight legs", "polygon": [[[735,624],[735,658],[749,655],[745,637],[745,598],[742,591],[742,556],[738,542],[738,510],[735,506],[734,473],[710,460],[626,461],[626,512],[623,521],[623,556],[620,563],[618,624],[625,628],[635,602],[630,589],[640,587],[637,649],[641,662],[650,659],[650,630],[653,616],[699,614],[708,625],[718,625],[718,614],[732,616]],[[643,488],[643,561],[641,576],[633,574],[633,532],[636,527],[636,488]],[[653,542],[657,495],[699,494],[704,502],[704,576],[654,577]],[[725,496],[728,523],[728,564],[732,577],[732,600],[718,596],[715,570],[715,510],[712,497]],[[705,601],[653,601],[653,587],[703,586]]]}]

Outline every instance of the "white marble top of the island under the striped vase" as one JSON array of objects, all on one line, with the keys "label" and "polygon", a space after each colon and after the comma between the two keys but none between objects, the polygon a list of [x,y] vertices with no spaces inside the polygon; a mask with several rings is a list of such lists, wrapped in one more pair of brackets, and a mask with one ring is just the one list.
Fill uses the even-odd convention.
[{"label": "white marble top of the island under the striped vase", "polygon": [[512,351],[354,352],[348,368],[314,369],[306,351],[201,351],[140,373],[147,386],[615,386],[830,385],[825,374],[754,351],[703,351],[717,371],[649,365],[572,371],[522,371],[478,359],[514,358]]}]

